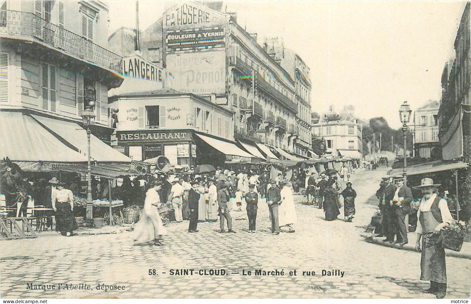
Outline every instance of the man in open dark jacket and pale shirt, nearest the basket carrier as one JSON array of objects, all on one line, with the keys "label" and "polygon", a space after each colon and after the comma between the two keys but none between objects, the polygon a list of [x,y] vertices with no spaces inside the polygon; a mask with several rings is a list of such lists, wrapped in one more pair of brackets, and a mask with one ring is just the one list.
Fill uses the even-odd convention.
[{"label": "man in open dark jacket and pale shirt, nearest the basket carrier", "polygon": [[[397,233],[396,243],[398,243],[399,246],[404,246],[407,244],[406,215],[412,211],[412,191],[404,184],[403,177],[398,178],[397,182],[398,188],[392,199],[392,210],[394,213],[392,232]],[[392,237],[394,238],[394,235],[392,235]],[[394,239],[390,238],[390,241],[391,240]]]}]

